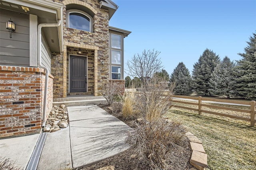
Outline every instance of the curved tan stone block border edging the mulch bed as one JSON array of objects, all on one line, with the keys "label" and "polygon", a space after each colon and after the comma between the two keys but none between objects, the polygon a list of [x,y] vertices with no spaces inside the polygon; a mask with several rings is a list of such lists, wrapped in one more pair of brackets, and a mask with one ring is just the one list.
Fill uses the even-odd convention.
[{"label": "curved tan stone block border edging the mulch bed", "polygon": [[[187,132],[186,136],[190,140],[190,148],[192,150],[190,164],[197,170],[205,170],[207,168],[207,154],[205,153],[202,142],[190,132]],[[190,170],[194,170],[194,168]]]}]

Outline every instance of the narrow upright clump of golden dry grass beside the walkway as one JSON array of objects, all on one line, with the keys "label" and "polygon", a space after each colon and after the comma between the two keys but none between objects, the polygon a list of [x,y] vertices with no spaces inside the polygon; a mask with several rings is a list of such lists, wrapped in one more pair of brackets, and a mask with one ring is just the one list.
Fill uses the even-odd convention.
[{"label": "narrow upright clump of golden dry grass beside the walkway", "polygon": [[122,116],[126,119],[133,118],[136,114],[135,108],[135,100],[136,96],[134,91],[126,92],[125,95],[122,97]]}]

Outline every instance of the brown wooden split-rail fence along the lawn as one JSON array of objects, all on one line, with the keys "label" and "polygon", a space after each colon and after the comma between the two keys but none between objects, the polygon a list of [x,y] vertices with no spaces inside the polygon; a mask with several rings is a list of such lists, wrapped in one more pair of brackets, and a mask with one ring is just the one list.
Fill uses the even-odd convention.
[{"label": "brown wooden split-rail fence along the lawn", "polygon": [[[191,107],[187,107],[187,106],[179,106],[176,104],[173,104],[172,107],[176,107],[176,108],[183,108],[183,109],[188,109],[188,110],[194,110],[197,111],[199,115],[202,114],[202,112],[204,113],[209,113],[209,114],[215,114],[218,116],[225,116],[225,117],[229,117],[229,118],[235,118],[235,119],[239,119],[239,120],[245,120],[250,122],[250,126],[255,127],[255,115],[256,115],[256,108],[255,108],[255,101],[236,101],[236,100],[225,100],[225,99],[216,99],[216,98],[206,98],[206,97],[193,97],[193,96],[173,96],[174,98],[179,98],[180,100],[184,99],[192,99],[192,100],[196,100],[198,101],[198,103],[194,103],[194,102],[184,102],[184,101],[179,101],[179,100],[173,100],[174,103],[182,103],[182,104],[191,104],[191,105],[196,105],[198,106],[198,109],[196,108],[191,108]],[[211,105],[211,104],[202,104],[202,101],[212,101],[212,102],[221,102],[221,103],[228,103],[228,104],[237,104],[237,105],[247,105],[250,106],[250,110],[246,110],[246,109],[240,109],[240,108],[232,108],[232,107],[225,107],[225,106],[216,106],[216,105]],[[212,112],[212,111],[208,111],[208,110],[202,110],[202,106],[204,107],[208,107],[208,108],[216,108],[216,109],[222,109],[222,110],[231,110],[231,111],[235,111],[235,112],[243,112],[243,113],[250,113],[250,118],[245,118],[245,117],[241,117],[241,116],[234,116],[234,115],[230,115],[230,114],[223,114],[223,113],[218,113],[218,112]]]}]

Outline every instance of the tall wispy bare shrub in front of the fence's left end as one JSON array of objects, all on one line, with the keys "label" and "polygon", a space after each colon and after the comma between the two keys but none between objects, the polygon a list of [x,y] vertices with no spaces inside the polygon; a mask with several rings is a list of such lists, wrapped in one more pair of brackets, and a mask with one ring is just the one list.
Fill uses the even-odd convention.
[{"label": "tall wispy bare shrub in front of the fence's left end", "polygon": [[147,121],[157,121],[172,105],[174,84],[168,86],[162,77],[154,76],[142,84],[136,95],[135,107]]}]

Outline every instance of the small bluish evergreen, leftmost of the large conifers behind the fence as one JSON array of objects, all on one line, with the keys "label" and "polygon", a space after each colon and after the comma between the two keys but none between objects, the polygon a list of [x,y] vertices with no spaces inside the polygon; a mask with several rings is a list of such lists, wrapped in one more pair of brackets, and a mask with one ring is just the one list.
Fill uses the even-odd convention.
[{"label": "small bluish evergreen, leftmost of the large conifers behind the fence", "polygon": [[180,62],[178,66],[173,70],[170,77],[170,82],[175,82],[175,94],[192,94],[192,78],[183,62]]}]

